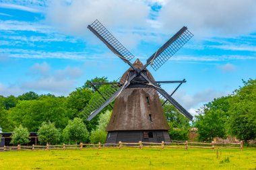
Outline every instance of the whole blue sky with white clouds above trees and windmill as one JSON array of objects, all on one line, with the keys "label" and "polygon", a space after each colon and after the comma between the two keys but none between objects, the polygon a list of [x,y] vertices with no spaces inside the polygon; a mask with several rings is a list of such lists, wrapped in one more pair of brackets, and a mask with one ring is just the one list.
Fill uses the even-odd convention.
[{"label": "whole blue sky with white clouds above trees and windmill", "polygon": [[255,16],[255,0],[0,0],[0,95],[68,96],[88,79],[121,77],[129,66],[88,30],[95,19],[144,64],[187,26],[193,38],[148,69],[157,81],[186,79],[173,97],[195,114],[256,78]]}]

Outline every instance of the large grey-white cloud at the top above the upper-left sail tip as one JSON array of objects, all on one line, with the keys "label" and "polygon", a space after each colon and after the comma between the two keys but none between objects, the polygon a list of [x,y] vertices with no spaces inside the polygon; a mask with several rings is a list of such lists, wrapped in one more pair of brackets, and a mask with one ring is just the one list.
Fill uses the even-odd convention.
[{"label": "large grey-white cloud at the top above the upper-left sail tip", "polygon": [[88,24],[95,19],[107,28],[145,25],[149,11],[149,7],[141,1],[53,1],[49,3],[46,20],[69,34],[81,36],[86,34]]}]

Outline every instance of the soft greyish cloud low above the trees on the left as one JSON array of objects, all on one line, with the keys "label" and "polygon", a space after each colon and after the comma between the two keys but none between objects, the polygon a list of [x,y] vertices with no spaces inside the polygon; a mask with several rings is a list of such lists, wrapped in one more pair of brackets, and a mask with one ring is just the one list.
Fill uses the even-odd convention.
[{"label": "soft greyish cloud low above the trees on the left", "polygon": [[21,89],[38,91],[39,93],[53,93],[55,95],[68,95],[75,87],[76,79],[82,76],[82,70],[77,67],[53,70],[46,62],[35,63],[29,69],[29,75],[36,78],[23,82]]}]

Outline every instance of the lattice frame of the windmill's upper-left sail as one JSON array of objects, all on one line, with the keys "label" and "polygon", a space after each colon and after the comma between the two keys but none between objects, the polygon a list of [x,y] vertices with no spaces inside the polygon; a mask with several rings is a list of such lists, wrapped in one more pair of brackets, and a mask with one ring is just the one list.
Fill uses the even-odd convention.
[{"label": "lattice frame of the windmill's upper-left sail", "polygon": [[[110,32],[108,32],[108,30],[106,30],[106,28],[97,19],[90,24],[90,27],[93,28],[106,42],[108,42],[110,46],[115,48],[115,50],[117,50],[121,56],[127,60],[134,58],[133,54],[131,54],[131,52],[129,52],[129,50],[127,50],[127,48],[125,48],[125,46],[123,46]],[[106,44],[106,46],[109,48],[108,44]],[[112,49],[110,48],[110,50]],[[116,53],[115,51],[113,52]]]}]

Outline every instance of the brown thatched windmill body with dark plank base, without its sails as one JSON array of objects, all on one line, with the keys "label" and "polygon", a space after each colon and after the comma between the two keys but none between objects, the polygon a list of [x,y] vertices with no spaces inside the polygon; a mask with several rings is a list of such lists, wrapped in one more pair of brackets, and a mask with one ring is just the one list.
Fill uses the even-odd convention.
[{"label": "brown thatched windmill body with dark plank base, without its sails", "polygon": [[[143,66],[138,59],[133,65],[136,68]],[[129,69],[122,79],[127,80],[132,74],[133,69]],[[148,70],[144,74],[154,81]],[[170,142],[169,126],[158,93],[145,83],[142,77],[136,77],[115,99],[113,113],[106,128],[106,143]]]}]

